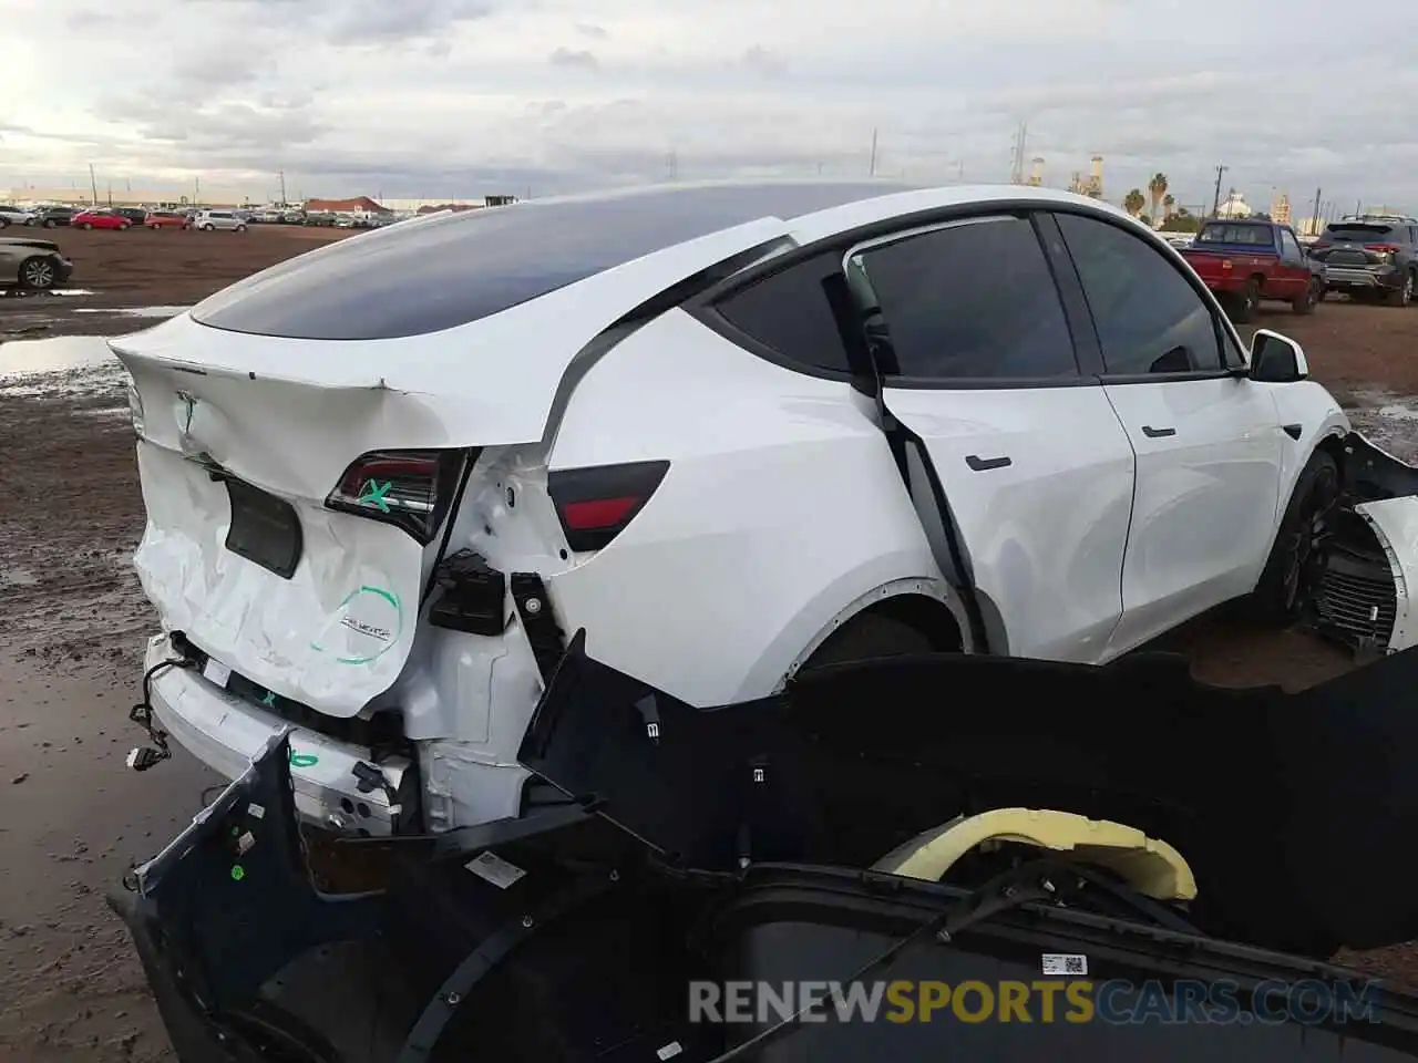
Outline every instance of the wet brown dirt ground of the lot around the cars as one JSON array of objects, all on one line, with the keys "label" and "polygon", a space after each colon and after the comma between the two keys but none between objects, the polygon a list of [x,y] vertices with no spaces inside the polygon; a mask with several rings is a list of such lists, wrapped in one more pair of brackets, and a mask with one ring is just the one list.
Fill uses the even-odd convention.
[{"label": "wet brown dirt ground of the lot around the cars", "polygon": [[[170,1053],[104,894],[216,780],[180,750],[145,775],[122,765],[139,740],[126,713],[155,626],[130,567],[143,506],[122,373],[96,342],[88,364],[69,364],[4,339],[130,332],[150,322],[78,310],[187,305],[333,234],[54,235],[77,262],[71,283],[92,295],[0,299],[0,1063],[156,1063]],[[1258,326],[1299,340],[1364,431],[1418,459],[1418,308],[1330,300]],[[1228,685],[1293,689],[1351,666],[1303,632],[1218,617],[1168,645]],[[1346,960],[1418,986],[1418,947]]]}]

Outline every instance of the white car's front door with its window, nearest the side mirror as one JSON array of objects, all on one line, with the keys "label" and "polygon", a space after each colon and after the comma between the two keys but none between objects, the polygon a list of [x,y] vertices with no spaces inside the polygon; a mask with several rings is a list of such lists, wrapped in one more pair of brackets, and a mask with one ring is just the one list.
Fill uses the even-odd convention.
[{"label": "white car's front door with its window, nearest the side mirror", "polygon": [[1173,259],[1099,218],[1059,214],[1137,455],[1123,564],[1123,652],[1255,587],[1275,533],[1282,439],[1265,386]]}]

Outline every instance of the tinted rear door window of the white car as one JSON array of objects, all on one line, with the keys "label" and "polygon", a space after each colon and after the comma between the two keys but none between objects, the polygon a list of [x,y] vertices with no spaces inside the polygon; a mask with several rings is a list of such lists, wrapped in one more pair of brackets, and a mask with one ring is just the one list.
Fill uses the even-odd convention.
[{"label": "tinted rear door window of the white car", "polygon": [[953,225],[869,248],[856,262],[881,310],[878,340],[889,343],[902,376],[1078,376],[1064,306],[1028,221]]}]

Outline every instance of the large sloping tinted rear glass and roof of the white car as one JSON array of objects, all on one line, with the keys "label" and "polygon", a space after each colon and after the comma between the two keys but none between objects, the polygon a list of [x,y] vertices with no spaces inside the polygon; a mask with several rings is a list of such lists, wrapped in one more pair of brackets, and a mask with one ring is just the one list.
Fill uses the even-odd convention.
[{"label": "large sloping tinted rear glass and roof of the white car", "polygon": [[[204,300],[193,317],[261,336],[418,336],[478,320],[733,225],[763,217],[794,218],[906,187],[885,181],[725,183],[458,211],[364,232],[288,259]],[[271,283],[277,278],[281,283]]]}]

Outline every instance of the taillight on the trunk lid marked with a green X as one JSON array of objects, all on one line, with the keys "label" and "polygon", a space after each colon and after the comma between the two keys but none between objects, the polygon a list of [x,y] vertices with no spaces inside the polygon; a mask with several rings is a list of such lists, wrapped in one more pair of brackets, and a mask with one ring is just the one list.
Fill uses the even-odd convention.
[{"label": "taillight on the trunk lid marked with a green X", "polygon": [[427,544],[448,513],[465,456],[464,451],[370,451],[345,469],[325,505],[396,524]]}]

